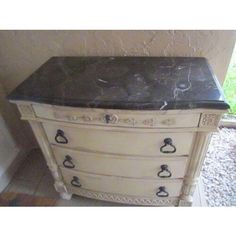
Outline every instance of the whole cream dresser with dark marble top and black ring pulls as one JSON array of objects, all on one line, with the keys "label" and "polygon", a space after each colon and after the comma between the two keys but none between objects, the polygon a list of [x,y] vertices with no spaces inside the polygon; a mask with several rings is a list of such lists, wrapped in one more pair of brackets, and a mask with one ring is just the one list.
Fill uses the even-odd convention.
[{"label": "whole cream dresser with dark marble top and black ring pulls", "polygon": [[53,57],[8,99],[62,198],[135,205],[191,205],[228,109],[207,61],[183,57]]}]

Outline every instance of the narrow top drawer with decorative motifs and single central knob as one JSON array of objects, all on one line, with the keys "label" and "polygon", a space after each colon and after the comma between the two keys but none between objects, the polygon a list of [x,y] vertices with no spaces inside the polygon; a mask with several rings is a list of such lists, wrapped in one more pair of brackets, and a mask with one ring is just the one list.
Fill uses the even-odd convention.
[{"label": "narrow top drawer with decorative motifs and single central knob", "polygon": [[166,111],[106,110],[50,105],[33,105],[33,108],[39,118],[117,127],[192,128],[198,126],[200,118],[200,114],[190,114],[186,111],[166,114]]}]

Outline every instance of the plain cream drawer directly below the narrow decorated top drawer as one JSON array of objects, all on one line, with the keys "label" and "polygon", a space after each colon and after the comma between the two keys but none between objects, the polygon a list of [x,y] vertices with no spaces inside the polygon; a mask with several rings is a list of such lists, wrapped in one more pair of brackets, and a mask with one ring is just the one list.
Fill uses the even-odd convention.
[{"label": "plain cream drawer directly below the narrow decorated top drawer", "polygon": [[43,123],[51,144],[92,152],[139,156],[189,155],[194,133],[152,129],[66,127]]}]

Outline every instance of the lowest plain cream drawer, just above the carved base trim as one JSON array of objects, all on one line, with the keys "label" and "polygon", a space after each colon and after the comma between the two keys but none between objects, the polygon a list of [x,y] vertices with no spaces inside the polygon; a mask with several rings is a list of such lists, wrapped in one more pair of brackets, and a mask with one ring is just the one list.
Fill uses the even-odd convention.
[{"label": "lowest plain cream drawer, just above the carved base trim", "polygon": [[124,178],[117,176],[94,175],[85,172],[61,169],[66,184],[70,187],[98,192],[142,197],[177,197],[183,181]]}]

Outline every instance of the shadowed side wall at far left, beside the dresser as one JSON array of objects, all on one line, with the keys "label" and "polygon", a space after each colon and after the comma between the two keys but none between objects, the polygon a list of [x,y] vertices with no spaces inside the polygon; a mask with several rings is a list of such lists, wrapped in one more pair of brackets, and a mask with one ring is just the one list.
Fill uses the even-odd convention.
[{"label": "shadowed side wall at far left, beside the dresser", "polygon": [[5,97],[0,83],[0,192],[9,184],[32,140]]}]

